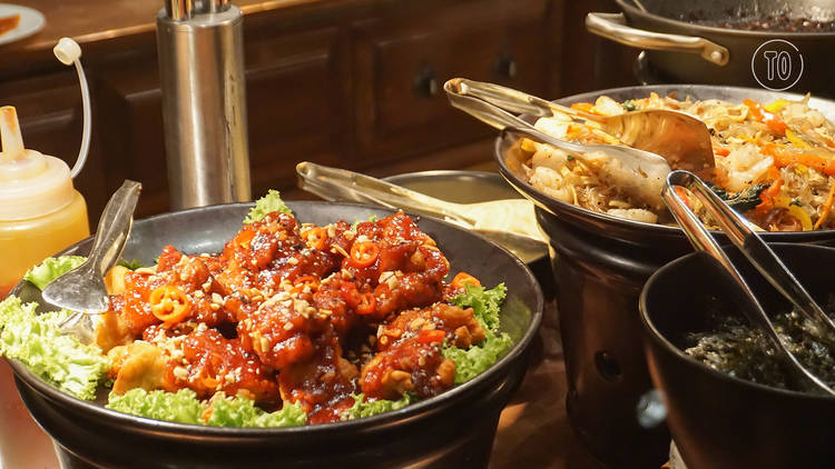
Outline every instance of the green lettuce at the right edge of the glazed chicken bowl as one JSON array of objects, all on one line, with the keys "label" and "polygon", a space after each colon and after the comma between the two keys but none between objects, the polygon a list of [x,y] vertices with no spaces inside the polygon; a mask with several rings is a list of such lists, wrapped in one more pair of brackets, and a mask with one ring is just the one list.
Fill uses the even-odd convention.
[{"label": "green lettuce at the right edge of the glazed chicken bowl", "polygon": [[499,312],[507,296],[507,287],[499,283],[487,290],[484,287],[465,286],[466,292],[452,299],[461,308],[472,308],[473,316],[484,328],[484,340],[460,349],[445,343],[442,348],[444,358],[455,362],[455,383],[466,382],[495,363],[513,345],[505,332],[498,332],[501,319]]}]

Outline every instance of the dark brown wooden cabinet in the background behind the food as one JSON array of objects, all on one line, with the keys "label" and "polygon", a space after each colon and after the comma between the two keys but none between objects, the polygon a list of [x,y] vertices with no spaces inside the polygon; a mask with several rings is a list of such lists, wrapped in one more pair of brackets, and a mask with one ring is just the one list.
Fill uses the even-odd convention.
[{"label": "dark brown wooden cabinet in the background behind the food", "polygon": [[[488,164],[495,131],[449,104],[449,78],[559,94],[558,0],[250,3],[244,47],[256,197],[268,188],[304,197],[295,189],[303,160],[376,176]],[[94,220],[126,178],[143,182],[139,217],[168,210],[154,40],[146,31],[86,47],[95,156],[78,182]],[[0,81],[0,102],[19,106],[32,147],[73,160],[78,84],[71,70],[55,67]]]}]

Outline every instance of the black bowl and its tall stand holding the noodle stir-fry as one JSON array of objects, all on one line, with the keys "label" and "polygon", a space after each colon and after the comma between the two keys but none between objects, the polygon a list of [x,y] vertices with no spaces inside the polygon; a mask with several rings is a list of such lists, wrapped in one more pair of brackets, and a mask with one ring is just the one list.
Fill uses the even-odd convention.
[{"label": "black bowl and its tall stand holding the noodle stir-fry", "polygon": [[[669,84],[595,91],[556,102],[569,106],[601,94],[623,101],[651,91],[734,102],[800,98],[748,88]],[[813,99],[811,104],[835,118],[834,101]],[[537,220],[549,238],[571,423],[601,460],[618,467],[657,467],[667,458],[669,433],[662,422],[654,425],[642,413],[642,398],[652,383],[641,348],[638,296],[650,275],[691,248],[677,227],[592,212],[534,189],[520,171],[524,157],[518,144],[514,137],[500,137],[494,157],[502,176],[537,204]],[[769,242],[835,242],[835,230],[764,236]]]}]

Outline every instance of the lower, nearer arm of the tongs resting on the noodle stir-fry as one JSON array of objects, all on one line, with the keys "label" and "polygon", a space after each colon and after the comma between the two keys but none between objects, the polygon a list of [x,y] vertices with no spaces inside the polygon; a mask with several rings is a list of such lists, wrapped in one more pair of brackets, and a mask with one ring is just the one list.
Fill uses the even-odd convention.
[{"label": "lower, nearer arm of the tongs resting on the noodle stir-fry", "polygon": [[[627,194],[649,204],[652,209],[664,208],[661,188],[671,171],[666,159],[648,151],[613,144],[579,144],[551,137],[518,117],[481,98],[468,96],[459,89],[462,79],[453,79],[444,84],[450,103],[470,116],[499,130],[523,133],[540,143],[548,143],[581,160],[590,160],[591,153],[602,153],[597,159],[598,176],[607,183],[620,188]],[[519,110],[521,108],[513,108]],[[600,162],[602,161],[602,163]]]}]

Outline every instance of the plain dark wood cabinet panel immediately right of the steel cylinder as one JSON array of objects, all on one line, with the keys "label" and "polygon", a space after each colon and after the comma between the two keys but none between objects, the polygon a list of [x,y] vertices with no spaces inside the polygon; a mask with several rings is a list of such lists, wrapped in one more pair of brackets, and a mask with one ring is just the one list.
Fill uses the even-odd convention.
[{"label": "plain dark wood cabinet panel immediately right of the steel cylinder", "polygon": [[338,166],[351,150],[345,30],[247,44],[247,110],[254,196],[295,183],[295,162]]}]

